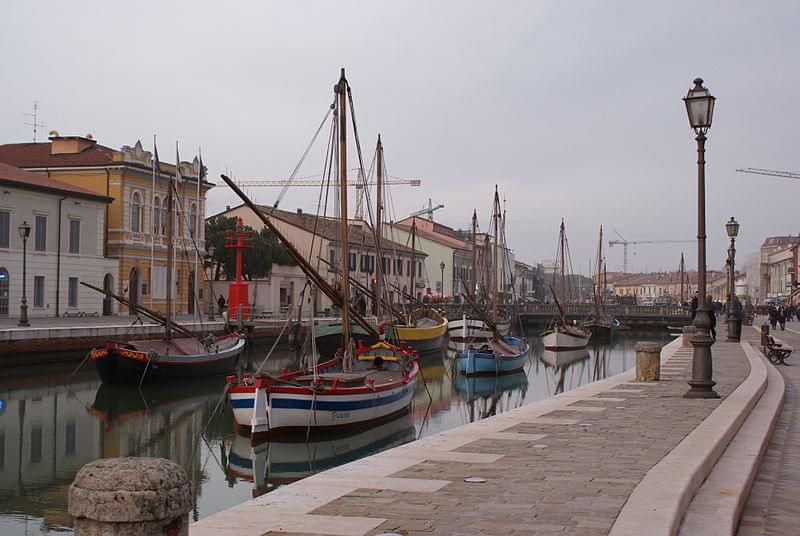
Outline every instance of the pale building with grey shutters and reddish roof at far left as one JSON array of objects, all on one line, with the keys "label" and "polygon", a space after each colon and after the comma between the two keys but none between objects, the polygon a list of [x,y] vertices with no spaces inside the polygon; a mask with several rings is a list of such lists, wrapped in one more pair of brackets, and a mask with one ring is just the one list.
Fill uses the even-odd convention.
[{"label": "pale building with grey shutters and reddish roof at far left", "polygon": [[[103,286],[117,259],[103,257],[106,206],[112,199],[0,163],[0,317],[16,317],[22,301],[27,240],[28,317],[113,313],[114,304],[80,285]],[[104,311],[105,304],[105,311]]]}]

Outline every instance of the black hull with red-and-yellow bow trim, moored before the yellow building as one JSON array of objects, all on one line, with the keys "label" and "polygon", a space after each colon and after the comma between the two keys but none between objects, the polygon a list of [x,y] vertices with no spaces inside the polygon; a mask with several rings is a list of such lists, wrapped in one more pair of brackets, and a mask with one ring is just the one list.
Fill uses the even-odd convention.
[{"label": "black hull with red-and-yellow bow trim, moored before the yellow building", "polygon": [[164,342],[110,342],[105,348],[92,350],[90,356],[104,383],[185,380],[232,372],[245,340],[235,334],[235,337],[221,338],[220,344],[210,353],[188,355],[159,353],[152,349],[160,344]]}]

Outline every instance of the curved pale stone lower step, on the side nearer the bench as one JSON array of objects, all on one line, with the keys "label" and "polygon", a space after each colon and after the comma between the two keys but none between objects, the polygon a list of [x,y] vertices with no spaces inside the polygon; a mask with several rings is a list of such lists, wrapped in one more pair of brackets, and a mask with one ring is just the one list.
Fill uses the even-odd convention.
[{"label": "curved pale stone lower step, on the side nearer the bench", "polygon": [[742,424],[722,458],[692,499],[679,535],[735,534],[761,460],[783,407],[786,385],[774,366],[752,345],[742,342],[767,368],[767,389]]}]

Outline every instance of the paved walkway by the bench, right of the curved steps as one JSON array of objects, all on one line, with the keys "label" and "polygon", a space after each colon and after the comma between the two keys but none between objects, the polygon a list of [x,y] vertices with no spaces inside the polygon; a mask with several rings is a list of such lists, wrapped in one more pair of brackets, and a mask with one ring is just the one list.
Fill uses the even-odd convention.
[{"label": "paved walkway by the bench, right of the curved steps", "polygon": [[[764,321],[758,318],[753,325]],[[759,332],[743,329],[742,338],[760,348]],[[786,398],[742,514],[739,536],[800,534],[800,322],[787,322],[786,331],[778,329],[772,335],[795,351],[787,360],[792,366],[776,367],[786,383]]]}]

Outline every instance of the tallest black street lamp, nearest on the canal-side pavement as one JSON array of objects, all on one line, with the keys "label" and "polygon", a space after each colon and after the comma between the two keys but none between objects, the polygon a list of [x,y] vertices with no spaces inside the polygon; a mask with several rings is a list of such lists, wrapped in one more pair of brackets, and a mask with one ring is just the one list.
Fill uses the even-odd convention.
[{"label": "tallest black street lamp, nearest on the canal-side pavement", "polygon": [[690,389],[683,395],[685,398],[719,398],[714,391],[717,382],[712,380],[713,364],[711,360],[711,317],[706,299],[706,132],[711,128],[714,115],[715,98],[703,87],[703,79],[695,78],[694,87],[684,97],[689,125],[697,137],[697,314],[694,318],[696,332],[691,339],[694,351],[692,354],[692,379]]}]

